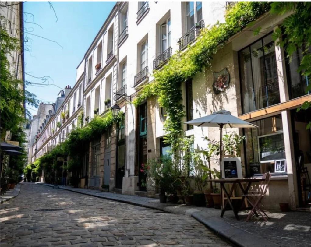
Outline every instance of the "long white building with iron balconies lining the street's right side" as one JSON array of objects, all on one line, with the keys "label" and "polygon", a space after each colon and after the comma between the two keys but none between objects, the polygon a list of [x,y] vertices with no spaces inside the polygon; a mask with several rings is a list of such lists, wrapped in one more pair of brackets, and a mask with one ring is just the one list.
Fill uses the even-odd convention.
[{"label": "long white building with iron balconies lining the street's right side", "polygon": [[[158,158],[170,148],[162,139],[165,109],[159,107],[155,98],[138,107],[131,100],[142,84],[153,80],[154,69],[161,69],[172,54],[185,51],[195,42],[201,28],[224,21],[225,10],[226,2],[117,2],[78,67],[79,79],[68,94],[72,101],[67,97],[61,110],[52,117],[51,127],[44,128],[47,133],[43,134],[45,139],[41,139],[37,153],[44,154],[48,146],[66,138],[76,113],[60,128],[55,123],[61,121],[62,111],[73,105],[78,107],[73,91],[77,97],[81,87],[85,122],[95,114],[103,116],[114,104],[121,107],[124,120],[89,143],[80,186],[107,186],[117,193],[153,196],[154,190],[141,184],[145,177],[140,168],[149,158]],[[197,73],[181,88],[186,112],[183,122],[225,109],[260,127],[258,132],[237,128],[224,131],[246,135],[241,151],[244,176],[273,173],[269,196],[265,198],[265,205],[272,208],[278,207],[281,201],[290,203],[292,208],[301,205],[303,191],[296,172],[296,153],[302,151],[305,165],[311,165],[311,157],[307,156],[311,151],[310,131],[304,128],[308,119],[295,112],[304,101],[311,100],[310,94],[303,90],[308,80],[297,76],[295,66],[299,54],[289,64],[271,38],[271,32],[284,18],[264,14],[253,27],[262,27],[262,33],[254,36],[246,28],[231,37],[215,54],[211,68]],[[264,50],[266,54],[263,52],[249,63],[244,57],[250,49]],[[284,59],[279,61],[276,57]],[[230,75],[230,84],[218,94],[213,91],[214,74],[224,70]],[[55,133],[49,132],[52,128]],[[218,128],[184,125],[184,133],[194,136],[194,147],[198,148],[206,148],[202,137],[219,140]],[[277,156],[286,160],[285,172],[275,173],[273,166],[278,158],[267,160],[260,152],[266,137],[275,138],[279,145]],[[219,170],[216,163],[212,166]]]}]

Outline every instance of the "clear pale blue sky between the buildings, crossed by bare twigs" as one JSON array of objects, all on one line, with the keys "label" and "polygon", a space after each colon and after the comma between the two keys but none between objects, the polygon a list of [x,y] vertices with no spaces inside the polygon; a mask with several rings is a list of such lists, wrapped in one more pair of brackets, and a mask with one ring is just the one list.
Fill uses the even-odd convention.
[{"label": "clear pale blue sky between the buildings, crossed by bare twigs", "polygon": [[[25,49],[29,49],[25,51],[25,79],[38,83],[42,81],[32,76],[49,76],[50,84],[64,88],[66,85],[74,85],[76,68],[115,2],[52,2],[52,4],[58,20],[48,2],[24,3],[24,21],[34,21],[42,27],[24,23],[26,40],[28,38]],[[59,45],[35,35],[56,41]],[[44,103],[54,102],[61,90],[56,86],[30,85],[26,86],[26,89]],[[32,114],[37,112],[33,107],[27,106],[27,109]]]}]

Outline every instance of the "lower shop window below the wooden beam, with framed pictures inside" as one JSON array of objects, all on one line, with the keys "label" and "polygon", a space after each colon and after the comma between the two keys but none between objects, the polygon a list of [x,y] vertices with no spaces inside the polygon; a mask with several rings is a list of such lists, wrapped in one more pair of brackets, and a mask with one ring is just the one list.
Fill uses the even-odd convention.
[{"label": "lower shop window below the wooden beam, with framed pictures inside", "polygon": [[[259,128],[245,128],[247,175],[277,172],[277,160],[285,160],[285,145],[281,114],[252,122]],[[286,161],[285,161],[286,162]],[[285,174],[286,169],[278,174]]]}]

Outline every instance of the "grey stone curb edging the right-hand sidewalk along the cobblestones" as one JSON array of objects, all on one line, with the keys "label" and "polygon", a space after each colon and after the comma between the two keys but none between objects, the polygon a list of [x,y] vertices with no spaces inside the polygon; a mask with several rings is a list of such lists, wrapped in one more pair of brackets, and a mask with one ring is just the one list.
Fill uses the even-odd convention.
[{"label": "grey stone curb edging the right-hand sidewalk along the cobblestones", "polygon": [[[51,184],[44,184],[44,183],[38,183],[40,185],[53,187]],[[95,192],[84,192],[84,191],[77,191],[70,188],[65,187],[59,187],[59,189],[68,190],[71,192],[76,192],[84,195],[94,196],[97,198],[103,198],[111,201],[116,201],[120,203],[127,203],[132,204],[135,206],[140,207],[146,207],[151,209],[157,209],[164,212],[169,213],[175,213],[175,214],[184,214],[193,217],[200,223],[202,223],[204,226],[206,226],[208,229],[216,233],[216,235],[221,236],[223,239],[229,241],[231,244],[234,244],[236,246],[241,247],[274,247],[274,246],[280,246],[277,244],[274,244],[266,239],[263,239],[259,236],[250,234],[246,231],[243,231],[239,228],[236,228],[234,226],[231,226],[224,220],[222,220],[219,217],[214,217],[209,215],[206,212],[202,212],[200,209],[197,208],[188,208],[188,207],[175,207],[175,204],[157,204],[152,202],[146,202],[146,203],[139,203],[135,200],[130,199],[121,199],[121,198],[112,198],[105,195],[98,195]],[[137,197],[135,197],[137,198]]]}]

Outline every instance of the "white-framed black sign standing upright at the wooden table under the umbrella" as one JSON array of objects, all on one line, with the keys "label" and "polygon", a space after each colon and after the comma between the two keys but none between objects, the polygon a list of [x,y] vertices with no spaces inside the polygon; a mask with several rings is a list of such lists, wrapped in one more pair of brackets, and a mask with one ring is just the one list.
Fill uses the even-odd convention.
[{"label": "white-framed black sign standing upright at the wooden table under the umbrella", "polygon": [[222,177],[224,179],[243,178],[240,157],[224,158],[221,163]]}]

